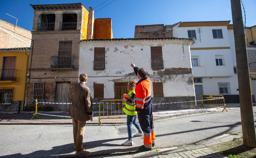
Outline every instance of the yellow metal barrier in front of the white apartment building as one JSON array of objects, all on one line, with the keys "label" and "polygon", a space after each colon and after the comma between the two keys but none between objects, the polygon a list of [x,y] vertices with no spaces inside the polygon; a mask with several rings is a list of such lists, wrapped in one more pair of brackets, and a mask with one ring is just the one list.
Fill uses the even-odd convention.
[{"label": "yellow metal barrier in front of the white apartment building", "polygon": [[213,106],[213,107],[223,107],[223,110],[226,110],[226,104],[225,99],[223,95],[201,95],[201,107],[204,107],[203,105]]}]

